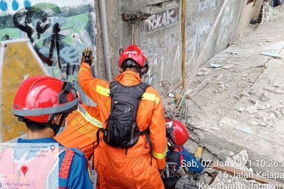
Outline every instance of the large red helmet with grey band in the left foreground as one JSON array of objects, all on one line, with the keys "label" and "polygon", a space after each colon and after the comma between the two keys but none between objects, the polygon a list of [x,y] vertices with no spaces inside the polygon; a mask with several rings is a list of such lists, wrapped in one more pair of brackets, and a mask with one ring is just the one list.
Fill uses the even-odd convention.
[{"label": "large red helmet with grey band in the left foreground", "polygon": [[[26,79],[19,87],[13,102],[13,114],[19,120],[49,123],[58,113],[77,109],[80,94],[69,82],[48,76]],[[81,102],[81,101],[80,101]]]}]

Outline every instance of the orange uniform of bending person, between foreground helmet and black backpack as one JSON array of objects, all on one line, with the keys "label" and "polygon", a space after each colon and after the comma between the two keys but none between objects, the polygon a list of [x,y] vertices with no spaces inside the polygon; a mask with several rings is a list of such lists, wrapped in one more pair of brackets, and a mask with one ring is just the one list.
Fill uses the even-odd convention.
[{"label": "orange uniform of bending person, between foreground helmet and black backpack", "polygon": [[99,108],[81,104],[68,115],[64,131],[54,138],[67,148],[78,147],[91,158],[93,142],[98,146],[97,130],[102,127]]}]

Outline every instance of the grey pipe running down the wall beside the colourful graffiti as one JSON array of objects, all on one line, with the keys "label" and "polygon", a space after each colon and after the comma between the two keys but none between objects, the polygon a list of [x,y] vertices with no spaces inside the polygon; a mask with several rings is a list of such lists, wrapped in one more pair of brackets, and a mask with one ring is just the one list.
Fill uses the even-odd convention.
[{"label": "grey pipe running down the wall beside the colourful graffiti", "polygon": [[107,80],[111,82],[112,81],[112,70],[111,70],[111,61],[110,61],[109,37],[108,37],[107,13],[106,13],[105,0],[99,0],[99,4],[100,4],[101,24],[102,24],[102,33],[103,33],[106,74],[107,74]]}]

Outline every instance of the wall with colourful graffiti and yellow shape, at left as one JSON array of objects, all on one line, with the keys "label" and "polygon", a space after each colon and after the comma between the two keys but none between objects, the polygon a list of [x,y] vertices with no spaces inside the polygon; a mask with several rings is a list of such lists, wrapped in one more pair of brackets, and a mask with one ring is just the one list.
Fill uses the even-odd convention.
[{"label": "wall with colourful graffiti and yellow shape, at left", "polygon": [[25,133],[11,112],[24,79],[50,75],[79,87],[82,49],[96,49],[94,6],[94,0],[0,0],[0,142]]}]

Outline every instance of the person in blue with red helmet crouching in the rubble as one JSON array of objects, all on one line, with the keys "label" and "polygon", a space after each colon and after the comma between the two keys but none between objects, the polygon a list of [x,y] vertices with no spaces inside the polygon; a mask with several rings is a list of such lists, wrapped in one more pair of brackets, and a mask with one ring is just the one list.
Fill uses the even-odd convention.
[{"label": "person in blue with red helmet crouching in the rubble", "polygon": [[[188,140],[187,128],[178,120],[166,120],[168,151],[166,168],[161,174],[165,189],[185,189],[195,182],[192,173],[201,173],[203,167],[183,145]],[[182,178],[182,179],[180,179]]]}]

